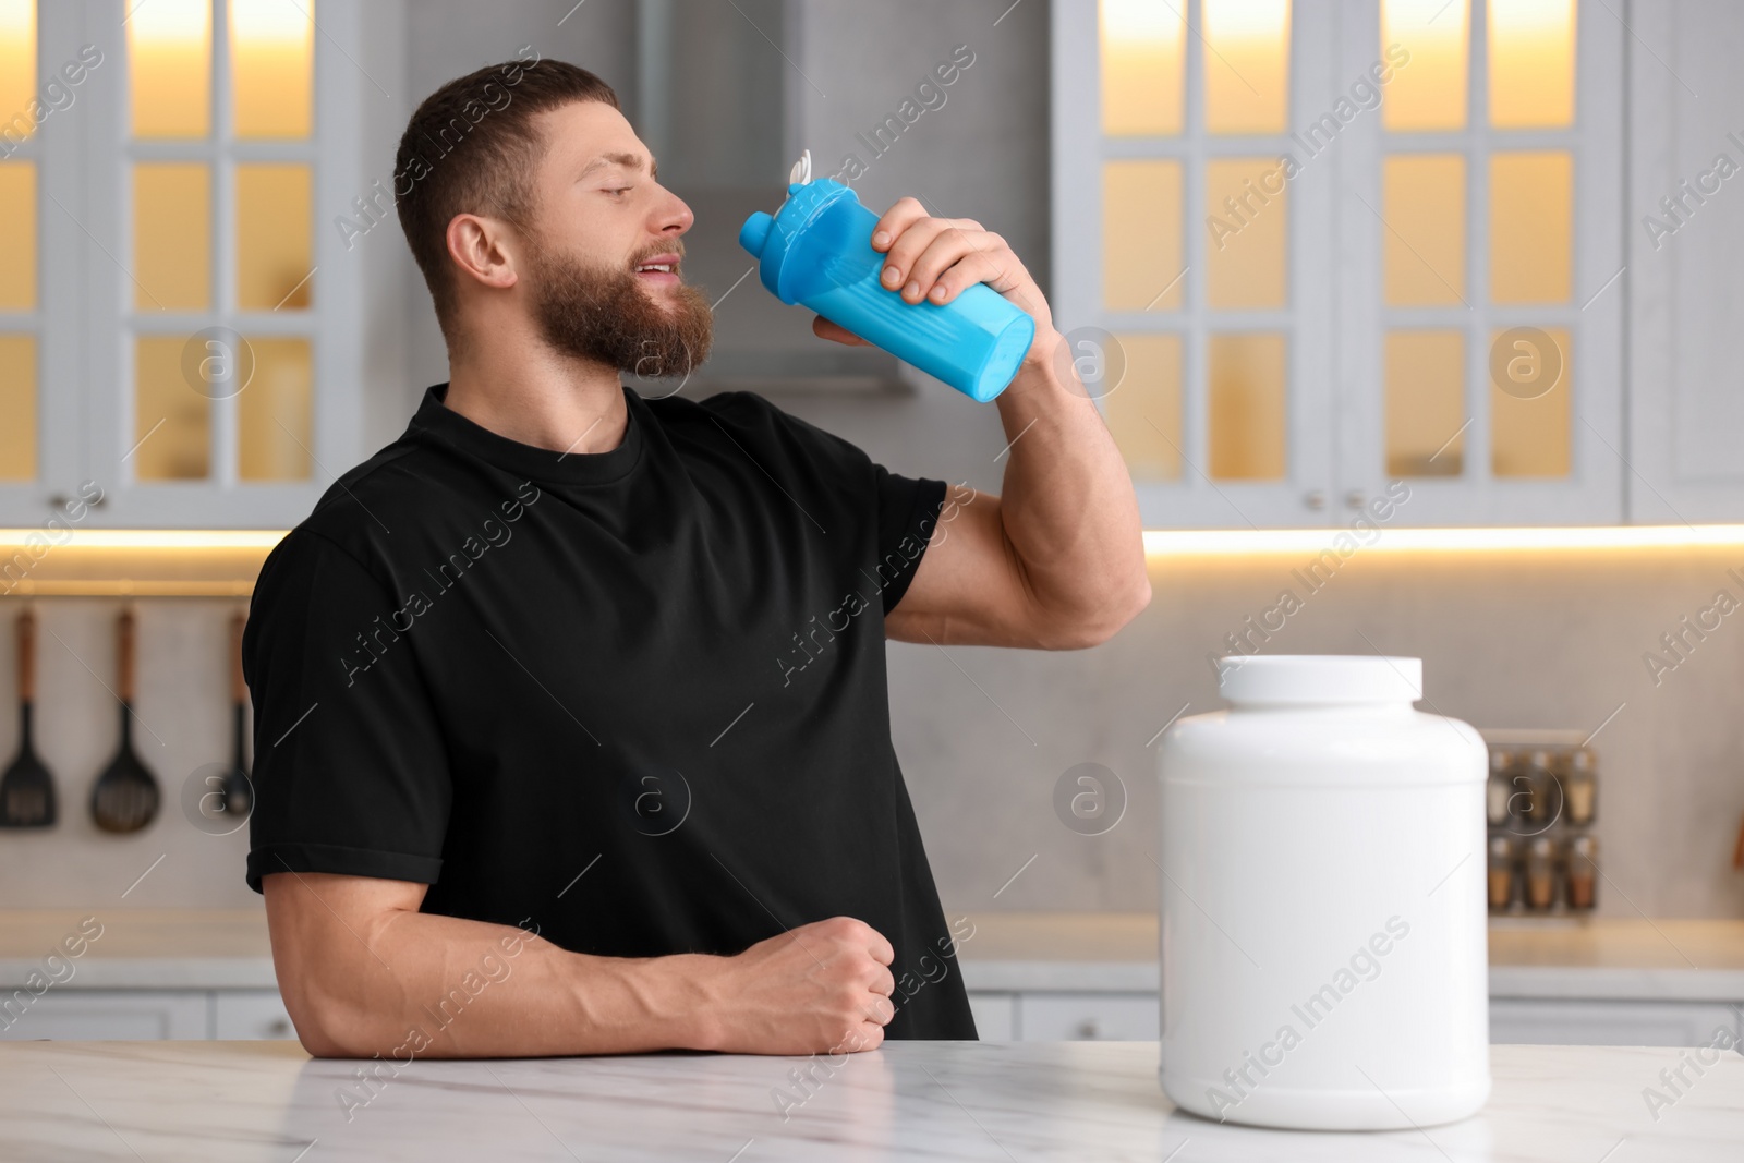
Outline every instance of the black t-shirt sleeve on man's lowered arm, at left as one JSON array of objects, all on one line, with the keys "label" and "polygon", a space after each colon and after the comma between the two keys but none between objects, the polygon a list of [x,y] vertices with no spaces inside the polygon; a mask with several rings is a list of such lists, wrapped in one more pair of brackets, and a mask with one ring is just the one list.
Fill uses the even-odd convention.
[{"label": "black t-shirt sleeve on man's lowered arm, at left", "polygon": [[248,886],[274,872],[434,884],[452,783],[396,602],[342,546],[295,530],[255,586],[242,664],[255,704]]}]

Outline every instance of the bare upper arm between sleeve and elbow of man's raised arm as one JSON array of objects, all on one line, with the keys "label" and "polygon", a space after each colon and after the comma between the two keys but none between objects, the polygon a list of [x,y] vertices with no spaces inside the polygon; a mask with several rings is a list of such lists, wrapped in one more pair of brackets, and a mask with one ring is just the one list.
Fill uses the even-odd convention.
[{"label": "bare upper arm between sleeve and elbow of man's raised arm", "polygon": [[938,645],[1045,647],[1045,624],[999,516],[999,497],[956,493],[884,635]]}]

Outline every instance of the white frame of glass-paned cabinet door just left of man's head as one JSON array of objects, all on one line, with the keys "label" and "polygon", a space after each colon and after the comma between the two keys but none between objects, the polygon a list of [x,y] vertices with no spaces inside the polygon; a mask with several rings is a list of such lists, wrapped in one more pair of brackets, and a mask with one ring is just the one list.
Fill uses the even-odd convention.
[{"label": "white frame of glass-paned cabinet door just left of man's head", "polygon": [[[129,464],[134,448],[134,352],[133,352],[133,256],[131,173],[134,160],[146,160],[155,143],[136,143],[127,134],[127,52],[122,17],[138,0],[84,0],[85,38],[105,54],[103,87],[91,94],[91,108],[80,122],[84,134],[84,220],[91,244],[80,248],[85,269],[85,303],[82,316],[87,335],[84,385],[87,394],[80,478],[94,479],[106,493],[106,504],[91,518],[92,527],[117,528],[288,528],[300,521],[326,492],[333,474],[359,459],[361,424],[361,350],[359,319],[363,263],[347,255],[345,241],[335,227],[338,216],[356,218],[354,199],[371,194],[361,166],[359,110],[373,92],[356,59],[361,56],[361,10],[358,0],[321,0],[314,37],[314,129],[307,143],[253,148],[253,143],[227,143],[228,124],[228,49],[225,42],[227,3],[218,0],[213,19],[213,138],[178,150],[199,152],[213,166],[213,309],[187,316],[164,316],[141,328],[162,331],[197,328],[213,323],[239,331],[269,335],[307,335],[312,347],[312,441],[307,481],[251,483],[237,479],[237,399],[211,405],[211,471],[199,481],[133,479]],[[314,291],[307,323],[272,316],[272,312],[232,310],[227,296],[234,282],[234,188],[235,162],[293,157],[312,167],[312,249]],[[380,174],[387,176],[387,174]],[[391,181],[387,183],[391,185]],[[192,391],[192,389],[190,389]],[[244,389],[246,391],[246,389]]]}]

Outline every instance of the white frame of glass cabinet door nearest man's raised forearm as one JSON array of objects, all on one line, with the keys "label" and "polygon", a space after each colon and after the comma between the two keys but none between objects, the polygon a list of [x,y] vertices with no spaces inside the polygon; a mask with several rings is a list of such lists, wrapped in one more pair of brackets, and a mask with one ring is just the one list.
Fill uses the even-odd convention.
[{"label": "white frame of glass cabinet door nearest man's raised forearm", "polygon": [[[1284,331],[1287,343],[1289,417],[1285,474],[1277,481],[1212,481],[1207,431],[1205,195],[1193,162],[1207,157],[1266,155],[1273,138],[1214,138],[1202,129],[1203,51],[1198,37],[1200,0],[1188,3],[1184,129],[1179,138],[1104,139],[1100,119],[1100,45],[1097,0],[1055,0],[1052,9],[1052,197],[1055,328],[1109,333],[1158,331],[1182,338],[1181,478],[1135,479],[1146,528],[1287,528],[1325,527],[1332,483],[1332,239],[1317,223],[1331,220],[1336,180],[1331,167],[1305,167],[1289,183],[1289,307],[1284,310],[1219,312],[1216,330]],[[1334,47],[1331,5],[1298,3],[1291,31],[1291,117],[1329,103]],[[1285,134],[1277,134],[1282,139]],[[1102,307],[1102,162],[1121,157],[1181,159],[1182,309],[1172,312],[1109,312]],[[1116,387],[1114,391],[1120,391]]]}]

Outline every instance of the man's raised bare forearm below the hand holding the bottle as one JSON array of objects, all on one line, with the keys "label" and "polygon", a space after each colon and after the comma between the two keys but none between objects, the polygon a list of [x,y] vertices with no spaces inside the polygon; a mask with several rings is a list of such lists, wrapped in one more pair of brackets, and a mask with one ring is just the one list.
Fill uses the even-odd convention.
[{"label": "man's raised bare forearm below the hand holding the bottle", "polygon": [[1010,441],[999,513],[1036,603],[1097,636],[1149,600],[1139,502],[1066,340],[1052,350],[998,398]]}]

